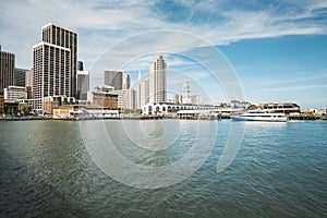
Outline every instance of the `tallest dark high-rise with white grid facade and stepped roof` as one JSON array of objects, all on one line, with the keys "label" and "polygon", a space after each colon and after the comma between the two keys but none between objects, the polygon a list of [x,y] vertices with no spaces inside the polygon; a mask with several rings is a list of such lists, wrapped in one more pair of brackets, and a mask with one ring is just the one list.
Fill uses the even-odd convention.
[{"label": "tallest dark high-rise with white grid facade and stepped roof", "polygon": [[55,24],[43,27],[43,41],[33,47],[35,110],[47,96],[76,97],[77,33]]}]

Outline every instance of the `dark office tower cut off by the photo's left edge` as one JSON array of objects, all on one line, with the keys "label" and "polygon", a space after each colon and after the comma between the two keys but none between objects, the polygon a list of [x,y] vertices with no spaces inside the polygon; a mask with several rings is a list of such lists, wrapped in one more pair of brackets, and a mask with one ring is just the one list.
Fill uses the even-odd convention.
[{"label": "dark office tower cut off by the photo's left edge", "polygon": [[15,84],[15,55],[1,50],[0,46],[0,90]]}]

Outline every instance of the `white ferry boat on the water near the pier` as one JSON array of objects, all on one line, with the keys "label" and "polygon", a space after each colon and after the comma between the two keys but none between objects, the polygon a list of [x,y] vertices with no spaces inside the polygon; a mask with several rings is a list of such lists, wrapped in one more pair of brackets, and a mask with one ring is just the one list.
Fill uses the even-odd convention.
[{"label": "white ferry boat on the water near the pier", "polygon": [[280,112],[269,112],[268,110],[249,110],[245,113],[230,117],[233,121],[268,121],[287,122],[288,117]]}]

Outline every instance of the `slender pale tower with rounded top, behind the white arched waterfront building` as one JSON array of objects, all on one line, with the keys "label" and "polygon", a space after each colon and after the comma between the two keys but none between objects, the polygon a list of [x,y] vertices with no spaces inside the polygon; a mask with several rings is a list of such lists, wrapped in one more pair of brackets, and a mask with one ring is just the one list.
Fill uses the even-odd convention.
[{"label": "slender pale tower with rounded top, behind the white arched waterfront building", "polygon": [[167,101],[166,62],[161,55],[157,56],[149,69],[149,101]]}]

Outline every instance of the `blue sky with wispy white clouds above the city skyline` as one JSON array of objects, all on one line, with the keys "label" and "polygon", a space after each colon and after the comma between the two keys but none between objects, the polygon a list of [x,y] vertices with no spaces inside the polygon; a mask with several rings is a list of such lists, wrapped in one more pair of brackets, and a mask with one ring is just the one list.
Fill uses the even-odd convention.
[{"label": "blue sky with wispy white clouds above the city skyline", "polygon": [[55,23],[77,32],[92,87],[106,69],[135,83],[162,53],[170,97],[187,77],[204,102],[327,108],[326,0],[11,0],[0,9],[0,45],[17,68],[32,68],[41,27]]}]

